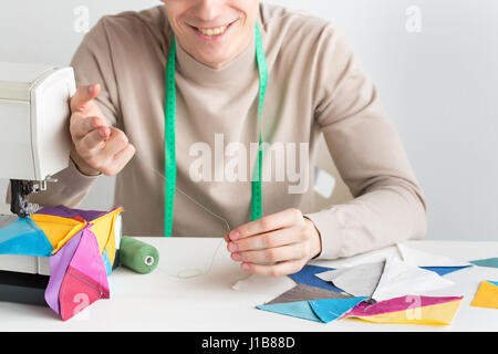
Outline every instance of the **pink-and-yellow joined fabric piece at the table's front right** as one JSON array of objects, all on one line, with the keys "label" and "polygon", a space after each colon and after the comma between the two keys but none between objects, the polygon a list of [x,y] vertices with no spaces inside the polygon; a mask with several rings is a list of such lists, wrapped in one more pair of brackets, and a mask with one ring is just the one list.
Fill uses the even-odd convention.
[{"label": "pink-and-yellow joined fabric piece at the table's front right", "polygon": [[344,317],[374,323],[450,324],[461,299],[406,295],[374,304],[362,302]]}]

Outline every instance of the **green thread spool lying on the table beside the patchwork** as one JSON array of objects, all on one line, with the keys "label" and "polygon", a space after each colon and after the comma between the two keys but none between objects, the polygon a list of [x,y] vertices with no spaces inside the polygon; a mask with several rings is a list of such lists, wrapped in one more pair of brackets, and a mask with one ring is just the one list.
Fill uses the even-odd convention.
[{"label": "green thread spool lying on the table beside the patchwork", "polygon": [[120,262],[137,273],[148,274],[159,263],[159,252],[154,246],[123,236],[120,242]]}]

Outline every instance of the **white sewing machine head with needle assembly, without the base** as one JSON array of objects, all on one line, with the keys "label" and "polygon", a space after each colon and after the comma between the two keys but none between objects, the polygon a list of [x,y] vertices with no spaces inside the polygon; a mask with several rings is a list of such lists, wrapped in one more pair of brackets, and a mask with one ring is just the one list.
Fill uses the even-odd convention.
[{"label": "white sewing machine head with needle assembly, without the base", "polygon": [[10,179],[11,211],[37,211],[28,196],[69,165],[72,67],[0,62],[0,179]]}]

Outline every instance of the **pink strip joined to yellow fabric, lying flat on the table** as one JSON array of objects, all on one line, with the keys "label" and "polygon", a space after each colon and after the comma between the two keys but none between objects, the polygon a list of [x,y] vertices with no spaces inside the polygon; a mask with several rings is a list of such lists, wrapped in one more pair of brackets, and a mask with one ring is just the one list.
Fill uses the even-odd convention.
[{"label": "pink strip joined to yellow fabric, lying flat on the table", "polygon": [[421,295],[407,295],[401,298],[394,298],[374,304],[361,302],[353,310],[344,314],[345,316],[373,316],[377,314],[404,311],[407,309],[423,308],[429,305],[436,305],[440,303],[461,300],[463,296],[421,296]]}]

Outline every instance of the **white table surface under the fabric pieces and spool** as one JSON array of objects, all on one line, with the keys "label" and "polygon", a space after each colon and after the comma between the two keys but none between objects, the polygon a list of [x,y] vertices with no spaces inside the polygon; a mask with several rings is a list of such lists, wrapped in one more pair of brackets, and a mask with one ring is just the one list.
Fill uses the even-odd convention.
[{"label": "white table surface under the fabric pieces and spool", "polygon": [[[159,266],[151,274],[118,268],[110,277],[111,299],[95,302],[66,322],[48,308],[0,302],[0,331],[498,331],[498,310],[469,306],[483,280],[498,281],[498,269],[459,270],[445,275],[455,285],[427,293],[464,295],[452,325],[373,324],[352,319],[323,324],[257,310],[256,305],[270,299],[232,290],[234,283],[249,274],[230,260],[220,239],[141,239],[159,250]],[[467,261],[498,257],[498,242],[411,241],[406,244]],[[344,261],[350,260],[313,263],[336,267]],[[190,279],[172,275],[187,269],[209,269],[209,272]]]}]

